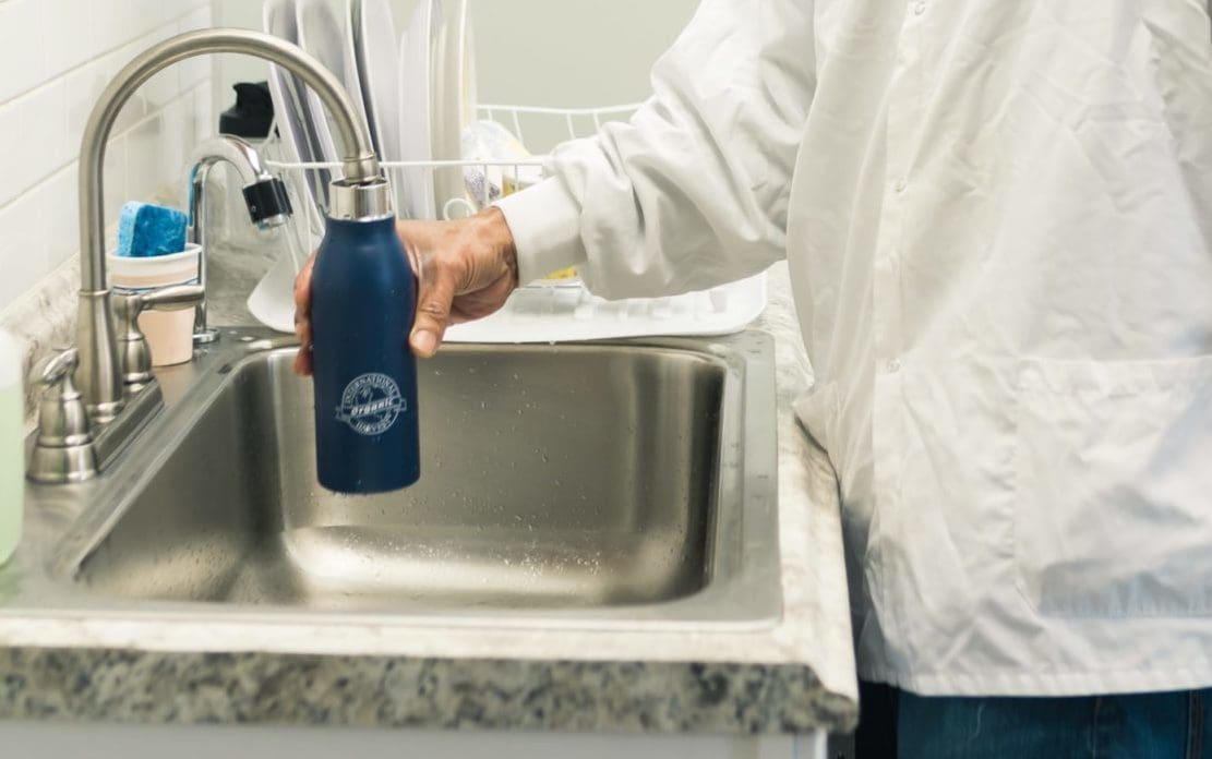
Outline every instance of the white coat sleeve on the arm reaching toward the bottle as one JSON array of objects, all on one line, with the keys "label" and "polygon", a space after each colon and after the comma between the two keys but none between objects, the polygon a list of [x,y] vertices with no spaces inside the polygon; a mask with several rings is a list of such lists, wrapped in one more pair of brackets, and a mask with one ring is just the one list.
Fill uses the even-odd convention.
[{"label": "white coat sleeve on the arm reaching toward the bottle", "polygon": [[565,143],[497,205],[524,283],[576,266],[607,298],[701,290],[785,251],[816,84],[811,0],[704,0],[627,122]]}]

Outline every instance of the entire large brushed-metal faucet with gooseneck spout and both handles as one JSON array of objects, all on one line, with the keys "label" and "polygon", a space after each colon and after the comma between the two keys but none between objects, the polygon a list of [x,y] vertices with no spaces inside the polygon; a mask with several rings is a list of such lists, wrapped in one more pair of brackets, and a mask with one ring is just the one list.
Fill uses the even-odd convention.
[{"label": "entire large brushed-metal faucet with gooseneck spout and both handles", "polygon": [[[355,115],[341,81],[301,48],[278,38],[244,29],[201,29],[160,42],[139,53],[101,93],[88,115],[80,145],[80,297],[76,344],[48,364],[40,382],[48,386],[29,476],[42,483],[80,481],[96,475],[160,405],[138,314],[145,308],[187,308],[201,302],[200,285],[178,285],[119,301],[122,336],[115,335],[105,279],[105,209],[102,166],[105,143],[122,105],[154,74],[207,53],[244,53],[263,58],[299,76],[332,114],[344,148],[344,178],[332,182],[330,216],[353,218],[388,212],[389,189],[371,148],[366,126]],[[196,219],[195,219],[196,221]],[[121,343],[121,346],[119,344]],[[70,382],[74,370],[75,382]],[[76,389],[79,388],[79,390]],[[59,413],[64,404],[86,412]],[[131,410],[124,412],[130,404]],[[70,434],[59,427],[70,420]],[[39,450],[39,446],[46,450]],[[46,463],[40,463],[46,462]],[[81,463],[82,462],[82,463]]]}]

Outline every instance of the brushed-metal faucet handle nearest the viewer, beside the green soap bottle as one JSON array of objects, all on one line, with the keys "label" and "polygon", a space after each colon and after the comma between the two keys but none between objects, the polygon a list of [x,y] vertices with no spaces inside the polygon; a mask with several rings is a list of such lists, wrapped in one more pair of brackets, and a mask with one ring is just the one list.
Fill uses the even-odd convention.
[{"label": "brushed-metal faucet handle nearest the viewer, beside the green soap bottle", "polygon": [[72,377],[79,363],[79,352],[65,348],[34,367],[33,380],[46,387],[29,462],[29,478],[35,481],[78,483],[97,473],[88,410]]}]

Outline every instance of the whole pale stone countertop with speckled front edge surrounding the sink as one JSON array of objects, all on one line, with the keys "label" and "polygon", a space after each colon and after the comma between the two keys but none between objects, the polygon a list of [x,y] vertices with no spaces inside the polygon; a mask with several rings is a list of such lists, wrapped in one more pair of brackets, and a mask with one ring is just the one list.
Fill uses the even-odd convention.
[{"label": "whole pale stone countertop with speckled front edge surrounding the sink", "polygon": [[[262,250],[268,250],[262,247]],[[268,253],[217,250],[213,324],[248,324]],[[64,267],[0,314],[32,343],[62,342],[78,286]],[[0,569],[0,719],[269,723],[458,729],[761,734],[857,719],[836,483],[791,410],[808,382],[784,266],[753,325],[776,337],[783,615],[711,630],[493,630],[350,617],[233,620],[6,609]],[[68,320],[68,321],[65,321]]]}]

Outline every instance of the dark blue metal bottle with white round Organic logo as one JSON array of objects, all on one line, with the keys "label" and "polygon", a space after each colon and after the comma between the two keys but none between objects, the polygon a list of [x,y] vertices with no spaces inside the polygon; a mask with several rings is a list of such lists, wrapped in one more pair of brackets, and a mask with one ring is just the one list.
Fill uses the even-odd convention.
[{"label": "dark blue metal bottle with white round Organic logo", "polygon": [[385,492],[421,476],[416,279],[387,183],[342,182],[311,276],[316,469],[328,490]]}]

